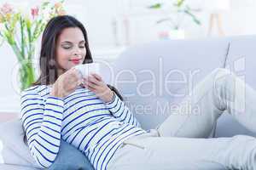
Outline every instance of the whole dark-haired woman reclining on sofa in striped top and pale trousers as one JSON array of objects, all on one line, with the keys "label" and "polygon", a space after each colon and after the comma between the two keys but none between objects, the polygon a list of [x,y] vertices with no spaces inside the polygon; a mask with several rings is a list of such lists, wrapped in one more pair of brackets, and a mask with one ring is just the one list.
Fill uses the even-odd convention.
[{"label": "whole dark-haired woman reclining on sofa in striped top and pale trousers", "polygon": [[[256,93],[228,71],[213,71],[181,103],[199,106],[200,115],[177,112],[145,131],[117,90],[99,75],[81,77],[73,67],[89,62],[84,26],[68,15],[49,20],[42,37],[41,75],[21,96],[21,121],[41,167],[52,165],[63,139],[99,170],[256,169],[253,137],[202,139],[225,110],[256,132]],[[241,104],[247,113],[241,114]]]}]

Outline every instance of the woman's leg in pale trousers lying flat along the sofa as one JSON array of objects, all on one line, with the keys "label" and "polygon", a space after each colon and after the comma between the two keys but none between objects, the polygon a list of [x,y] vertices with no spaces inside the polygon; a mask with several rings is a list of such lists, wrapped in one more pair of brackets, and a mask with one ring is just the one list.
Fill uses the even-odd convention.
[{"label": "woman's leg in pale trousers lying flat along the sofa", "polygon": [[[256,139],[133,137],[108,164],[108,170],[256,170]],[[140,147],[137,147],[140,146]]]}]

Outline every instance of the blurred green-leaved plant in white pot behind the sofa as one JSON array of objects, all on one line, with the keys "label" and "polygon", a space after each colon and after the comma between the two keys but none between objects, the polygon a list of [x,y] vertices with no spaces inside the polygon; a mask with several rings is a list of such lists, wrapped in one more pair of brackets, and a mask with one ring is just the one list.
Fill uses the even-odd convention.
[{"label": "blurred green-leaved plant in white pot behind the sofa", "polygon": [[186,18],[192,20],[195,25],[200,26],[201,21],[196,17],[195,13],[201,11],[198,8],[191,8],[186,0],[170,0],[170,3],[154,3],[148,8],[160,9],[165,8],[168,16],[157,20],[157,24],[167,22],[171,26],[171,34],[177,37],[183,37],[184,32],[181,30],[183,21]]}]

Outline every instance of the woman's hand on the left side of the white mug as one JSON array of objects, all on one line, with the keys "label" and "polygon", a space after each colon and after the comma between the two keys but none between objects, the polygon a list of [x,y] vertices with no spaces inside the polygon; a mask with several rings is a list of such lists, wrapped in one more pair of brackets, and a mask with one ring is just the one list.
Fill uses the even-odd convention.
[{"label": "woman's hand on the left side of the white mug", "polygon": [[81,82],[82,79],[79,71],[75,68],[71,68],[58,77],[58,79],[53,84],[50,95],[58,98],[64,98],[68,94],[73,93],[76,88],[79,87]]}]

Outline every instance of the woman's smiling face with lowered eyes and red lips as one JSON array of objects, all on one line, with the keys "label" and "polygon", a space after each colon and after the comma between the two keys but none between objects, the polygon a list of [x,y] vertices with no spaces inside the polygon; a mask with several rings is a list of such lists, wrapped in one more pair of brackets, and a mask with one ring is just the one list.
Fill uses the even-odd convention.
[{"label": "woman's smiling face with lowered eyes and red lips", "polygon": [[57,39],[55,54],[60,73],[83,63],[86,48],[84,34],[79,27],[65,28],[61,31]]}]

